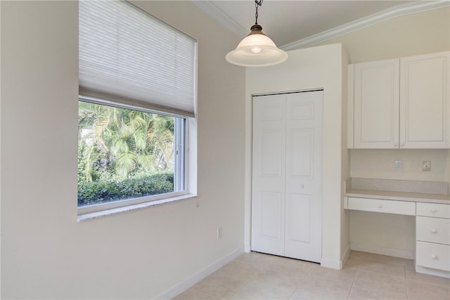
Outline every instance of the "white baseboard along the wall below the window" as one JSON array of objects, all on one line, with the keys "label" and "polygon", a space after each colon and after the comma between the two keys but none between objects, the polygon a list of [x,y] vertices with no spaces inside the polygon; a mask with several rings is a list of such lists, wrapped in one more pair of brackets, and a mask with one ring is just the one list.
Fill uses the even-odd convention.
[{"label": "white baseboard along the wall below the window", "polygon": [[219,270],[219,268],[225,266],[227,263],[229,263],[233,259],[236,259],[236,257],[240,256],[240,254],[243,254],[243,253],[244,253],[243,247],[240,247],[240,248],[234,250],[233,252],[227,254],[226,256],[222,257],[218,261],[212,263],[210,266],[207,266],[203,270],[200,270],[200,272],[195,273],[190,278],[187,278],[183,282],[180,282],[179,284],[175,285],[168,291],[163,292],[163,293],[159,294],[158,296],[155,296],[155,298],[153,298],[153,299],[162,300],[162,299],[174,298],[176,295],[181,294],[189,287],[192,287],[200,280],[203,280],[203,278],[207,277],[207,275],[211,275],[215,271]]}]

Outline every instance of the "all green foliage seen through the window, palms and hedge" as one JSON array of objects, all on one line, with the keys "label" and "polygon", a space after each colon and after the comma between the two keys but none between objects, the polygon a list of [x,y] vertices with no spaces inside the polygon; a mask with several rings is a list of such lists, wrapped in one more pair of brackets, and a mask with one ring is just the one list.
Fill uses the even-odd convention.
[{"label": "all green foliage seen through the window, palms and hedge", "polygon": [[174,117],[79,101],[78,205],[170,193]]}]

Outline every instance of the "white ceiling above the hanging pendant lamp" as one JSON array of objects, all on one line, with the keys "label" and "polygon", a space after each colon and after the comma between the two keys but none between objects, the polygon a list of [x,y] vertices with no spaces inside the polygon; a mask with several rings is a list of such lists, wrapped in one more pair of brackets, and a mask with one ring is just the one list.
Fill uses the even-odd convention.
[{"label": "white ceiling above the hanging pendant lamp", "polygon": [[[217,22],[239,37],[245,37],[255,24],[255,0],[193,1]],[[352,31],[398,15],[416,13],[449,6],[449,1],[389,1],[389,0],[264,0],[258,8],[258,24],[277,46],[285,50],[302,48],[305,41],[324,37],[330,30]],[[355,22],[356,21],[356,22]],[[343,32],[345,33],[345,32]],[[326,34],[325,34],[326,35]],[[302,43],[303,41],[303,43]],[[312,41],[308,41],[311,44]],[[308,44],[308,42],[306,44]],[[300,44],[299,44],[300,43]],[[290,45],[289,45],[290,44]]]}]

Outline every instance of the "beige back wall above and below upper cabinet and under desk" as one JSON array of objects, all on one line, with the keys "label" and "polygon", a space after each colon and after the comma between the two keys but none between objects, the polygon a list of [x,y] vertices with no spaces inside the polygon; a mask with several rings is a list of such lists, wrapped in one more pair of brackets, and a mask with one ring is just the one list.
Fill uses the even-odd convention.
[{"label": "beige back wall above and below upper cabinet and under desk", "polygon": [[[450,8],[404,15],[345,34],[323,44],[342,43],[349,63],[413,56],[450,49]],[[403,168],[394,169],[401,159]],[[432,170],[422,171],[431,160]],[[351,176],[362,178],[450,181],[449,150],[351,150]],[[355,249],[396,256],[413,255],[414,219],[409,216],[350,213]]]}]

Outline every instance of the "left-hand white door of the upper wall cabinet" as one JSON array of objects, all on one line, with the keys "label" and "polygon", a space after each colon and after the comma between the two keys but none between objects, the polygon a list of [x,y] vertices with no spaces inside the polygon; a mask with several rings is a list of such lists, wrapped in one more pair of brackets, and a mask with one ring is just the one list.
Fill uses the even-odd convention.
[{"label": "left-hand white door of the upper wall cabinet", "polygon": [[399,148],[399,59],[354,65],[354,148]]}]

